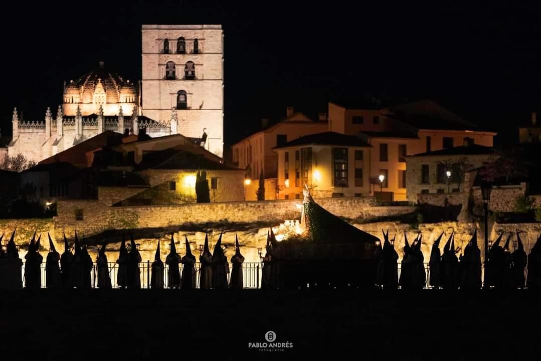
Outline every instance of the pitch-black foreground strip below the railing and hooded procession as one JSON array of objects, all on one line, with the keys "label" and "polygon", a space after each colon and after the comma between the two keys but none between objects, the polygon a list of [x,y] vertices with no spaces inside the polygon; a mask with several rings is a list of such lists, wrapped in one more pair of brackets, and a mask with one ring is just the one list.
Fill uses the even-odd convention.
[{"label": "pitch-black foreground strip below the railing and hooded procession", "polygon": [[[539,296],[526,290],[0,292],[0,359],[537,359],[530,354],[541,348]],[[248,347],[265,342],[267,331],[293,347]]]}]

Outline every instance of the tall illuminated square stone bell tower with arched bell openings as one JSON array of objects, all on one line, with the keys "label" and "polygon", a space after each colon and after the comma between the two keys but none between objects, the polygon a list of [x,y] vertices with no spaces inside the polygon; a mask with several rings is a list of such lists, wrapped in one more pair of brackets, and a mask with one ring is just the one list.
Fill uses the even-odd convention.
[{"label": "tall illuminated square stone bell tower with arched bell openings", "polygon": [[142,115],[188,137],[206,128],[204,148],[223,156],[221,25],[142,25],[142,52]]}]

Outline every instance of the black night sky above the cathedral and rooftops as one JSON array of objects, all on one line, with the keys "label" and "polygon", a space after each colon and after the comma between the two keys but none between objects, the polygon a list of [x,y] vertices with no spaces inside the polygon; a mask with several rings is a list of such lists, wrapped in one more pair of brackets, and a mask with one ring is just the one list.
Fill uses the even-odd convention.
[{"label": "black night sky above the cathedral and rooftops", "polygon": [[2,135],[56,114],[62,84],[97,67],[141,77],[141,24],[222,24],[230,145],[292,105],[430,97],[484,128],[526,120],[541,95],[539,6],[509,2],[42,2],[2,11]]}]

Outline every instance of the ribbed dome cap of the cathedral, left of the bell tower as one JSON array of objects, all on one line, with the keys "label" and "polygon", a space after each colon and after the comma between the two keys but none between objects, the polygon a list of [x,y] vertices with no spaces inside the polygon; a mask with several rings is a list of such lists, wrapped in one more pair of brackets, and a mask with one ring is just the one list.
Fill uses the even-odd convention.
[{"label": "ribbed dome cap of the cathedral, left of the bell tower", "polygon": [[100,62],[100,67],[90,71],[90,73],[84,74],[75,81],[76,86],[82,89],[81,102],[92,103],[94,92],[100,83],[107,95],[106,102],[118,103],[118,93],[120,93],[120,88],[124,81],[120,75],[107,71],[103,62]]}]

